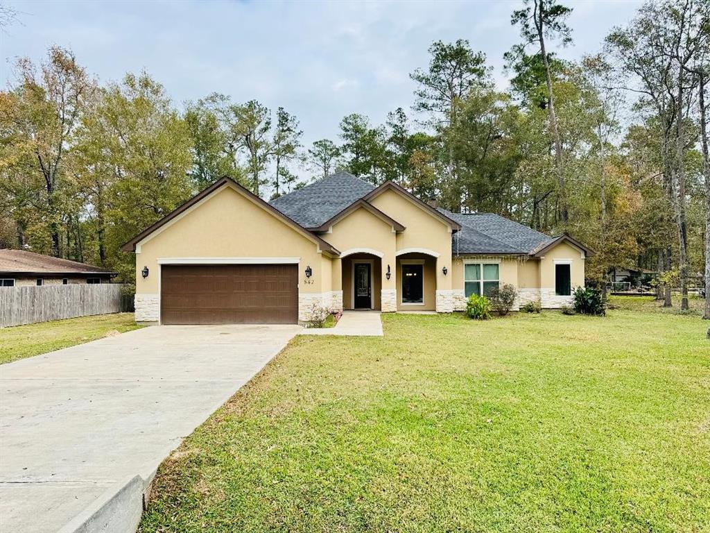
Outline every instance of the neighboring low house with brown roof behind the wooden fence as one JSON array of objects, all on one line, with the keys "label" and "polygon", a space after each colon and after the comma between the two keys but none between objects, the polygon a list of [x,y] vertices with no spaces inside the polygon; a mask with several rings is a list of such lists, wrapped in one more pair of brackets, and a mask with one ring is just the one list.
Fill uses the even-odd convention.
[{"label": "neighboring low house with brown roof behind the wooden fence", "polygon": [[25,250],[0,249],[0,286],[110,283],[115,272],[100,266]]}]

